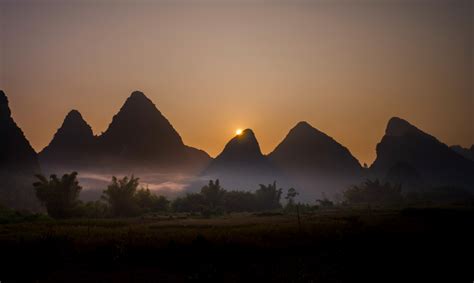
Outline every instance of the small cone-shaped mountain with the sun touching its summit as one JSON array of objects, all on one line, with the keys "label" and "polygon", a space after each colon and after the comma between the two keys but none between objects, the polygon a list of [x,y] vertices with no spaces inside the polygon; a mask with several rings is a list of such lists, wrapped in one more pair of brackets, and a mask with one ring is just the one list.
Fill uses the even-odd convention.
[{"label": "small cone-shaped mountain with the sun touching its summit", "polygon": [[202,173],[210,179],[220,179],[228,189],[256,189],[259,184],[279,181],[281,176],[268,158],[251,129],[233,137]]}]

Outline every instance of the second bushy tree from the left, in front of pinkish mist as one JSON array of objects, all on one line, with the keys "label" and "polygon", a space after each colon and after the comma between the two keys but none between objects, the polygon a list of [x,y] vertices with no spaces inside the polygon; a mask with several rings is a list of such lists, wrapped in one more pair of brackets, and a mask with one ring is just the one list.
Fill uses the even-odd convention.
[{"label": "second bushy tree from the left, in front of pinkish mist", "polygon": [[112,183],[102,193],[102,199],[107,201],[114,216],[133,216],[138,214],[135,193],[139,185],[139,178],[133,175],[128,178],[117,179],[112,177]]}]

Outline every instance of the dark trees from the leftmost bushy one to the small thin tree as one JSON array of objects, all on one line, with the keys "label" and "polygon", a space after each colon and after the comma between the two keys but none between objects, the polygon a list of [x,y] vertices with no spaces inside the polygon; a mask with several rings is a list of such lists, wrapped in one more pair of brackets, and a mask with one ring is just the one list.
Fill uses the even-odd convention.
[{"label": "dark trees from the leftmost bushy one to the small thin tree", "polygon": [[[281,209],[283,189],[276,182],[260,185],[255,192],[226,191],[219,180],[211,180],[199,193],[188,193],[174,201],[157,196],[147,188],[140,188],[139,178],[134,176],[118,179],[102,192],[98,201],[82,202],[82,187],[77,173],[64,174],[61,178],[37,175],[33,184],[36,197],[53,218],[71,217],[131,217],[145,213],[189,212],[204,216],[230,212],[270,211]],[[294,204],[296,190],[288,190],[286,199]]]}]

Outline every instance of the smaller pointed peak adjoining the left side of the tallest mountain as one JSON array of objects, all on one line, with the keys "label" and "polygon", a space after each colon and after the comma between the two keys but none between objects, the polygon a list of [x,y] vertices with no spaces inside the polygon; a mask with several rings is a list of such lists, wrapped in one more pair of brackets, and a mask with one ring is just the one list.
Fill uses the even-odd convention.
[{"label": "smaller pointed peak adjoining the left side of the tallest mountain", "polygon": [[50,144],[40,152],[44,168],[71,168],[78,170],[90,165],[96,138],[91,126],[81,113],[72,110]]}]

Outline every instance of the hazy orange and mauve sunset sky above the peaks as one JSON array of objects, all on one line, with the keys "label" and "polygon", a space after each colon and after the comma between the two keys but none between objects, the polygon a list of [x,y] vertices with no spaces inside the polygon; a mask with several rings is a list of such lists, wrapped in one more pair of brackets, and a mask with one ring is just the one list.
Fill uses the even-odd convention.
[{"label": "hazy orange and mauve sunset sky above the peaks", "polygon": [[370,164],[392,116],[470,146],[473,2],[0,0],[0,89],[37,151],[71,109],[105,131],[134,90],[211,156],[307,121]]}]

